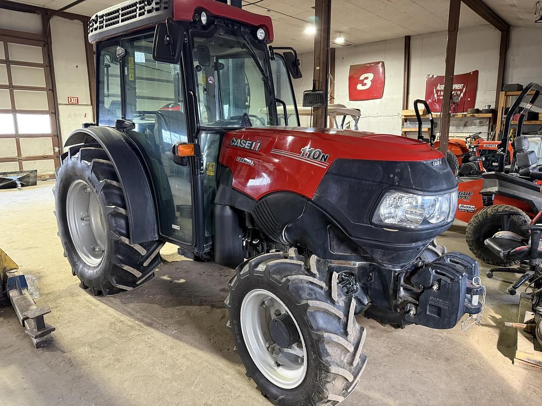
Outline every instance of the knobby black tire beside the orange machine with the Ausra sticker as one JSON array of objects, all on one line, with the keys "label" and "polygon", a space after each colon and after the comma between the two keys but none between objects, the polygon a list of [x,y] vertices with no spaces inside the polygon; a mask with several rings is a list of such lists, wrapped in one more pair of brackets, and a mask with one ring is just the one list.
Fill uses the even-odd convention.
[{"label": "knobby black tire beside the orange machine with the Ausra sticker", "polygon": [[481,209],[470,219],[466,230],[467,245],[474,256],[487,264],[499,266],[512,266],[519,264],[520,261],[505,261],[493,252],[491,252],[484,241],[501,231],[501,216],[496,215],[499,212],[516,212],[510,218],[510,230],[522,237],[527,237],[528,232],[525,228],[531,221],[527,214],[519,208],[509,205],[494,205]]}]

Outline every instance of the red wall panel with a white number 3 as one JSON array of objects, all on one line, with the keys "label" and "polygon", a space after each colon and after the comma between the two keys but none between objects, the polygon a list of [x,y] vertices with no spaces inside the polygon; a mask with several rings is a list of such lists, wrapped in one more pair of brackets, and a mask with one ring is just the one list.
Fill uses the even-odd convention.
[{"label": "red wall panel with a white number 3", "polygon": [[383,61],[351,65],[348,80],[350,100],[382,99],[385,81]]}]

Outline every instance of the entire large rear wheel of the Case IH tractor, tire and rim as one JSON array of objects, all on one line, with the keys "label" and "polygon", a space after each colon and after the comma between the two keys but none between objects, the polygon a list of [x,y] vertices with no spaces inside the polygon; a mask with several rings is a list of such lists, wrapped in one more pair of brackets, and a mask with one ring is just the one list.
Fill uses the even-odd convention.
[{"label": "entire large rear wheel of the Case IH tractor, tire and rim", "polygon": [[83,289],[115,294],[154,276],[163,243],[130,243],[124,191],[104,149],[71,147],[53,192],[64,256]]}]

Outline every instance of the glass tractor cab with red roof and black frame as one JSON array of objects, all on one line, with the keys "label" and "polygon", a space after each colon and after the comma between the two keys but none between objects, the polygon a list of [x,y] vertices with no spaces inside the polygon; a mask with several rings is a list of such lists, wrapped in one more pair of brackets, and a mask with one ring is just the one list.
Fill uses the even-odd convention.
[{"label": "glass tractor cab with red roof and black frame", "polygon": [[149,168],[159,234],[190,256],[211,245],[224,132],[299,126],[291,81],[301,76],[299,61],[293,48],[268,47],[268,17],[214,0],[138,4],[91,18],[96,123],[133,123],[128,133]]}]

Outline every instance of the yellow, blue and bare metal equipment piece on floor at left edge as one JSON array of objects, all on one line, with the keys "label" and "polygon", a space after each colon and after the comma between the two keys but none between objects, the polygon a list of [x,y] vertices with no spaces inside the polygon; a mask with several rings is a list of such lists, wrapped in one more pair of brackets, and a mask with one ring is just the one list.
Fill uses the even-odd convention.
[{"label": "yellow, blue and bare metal equipment piece on floor at left edge", "polygon": [[49,345],[53,339],[53,326],[45,322],[43,316],[51,311],[38,307],[28,292],[28,283],[18,265],[0,248],[0,307],[11,306],[26,329],[36,348]]}]

